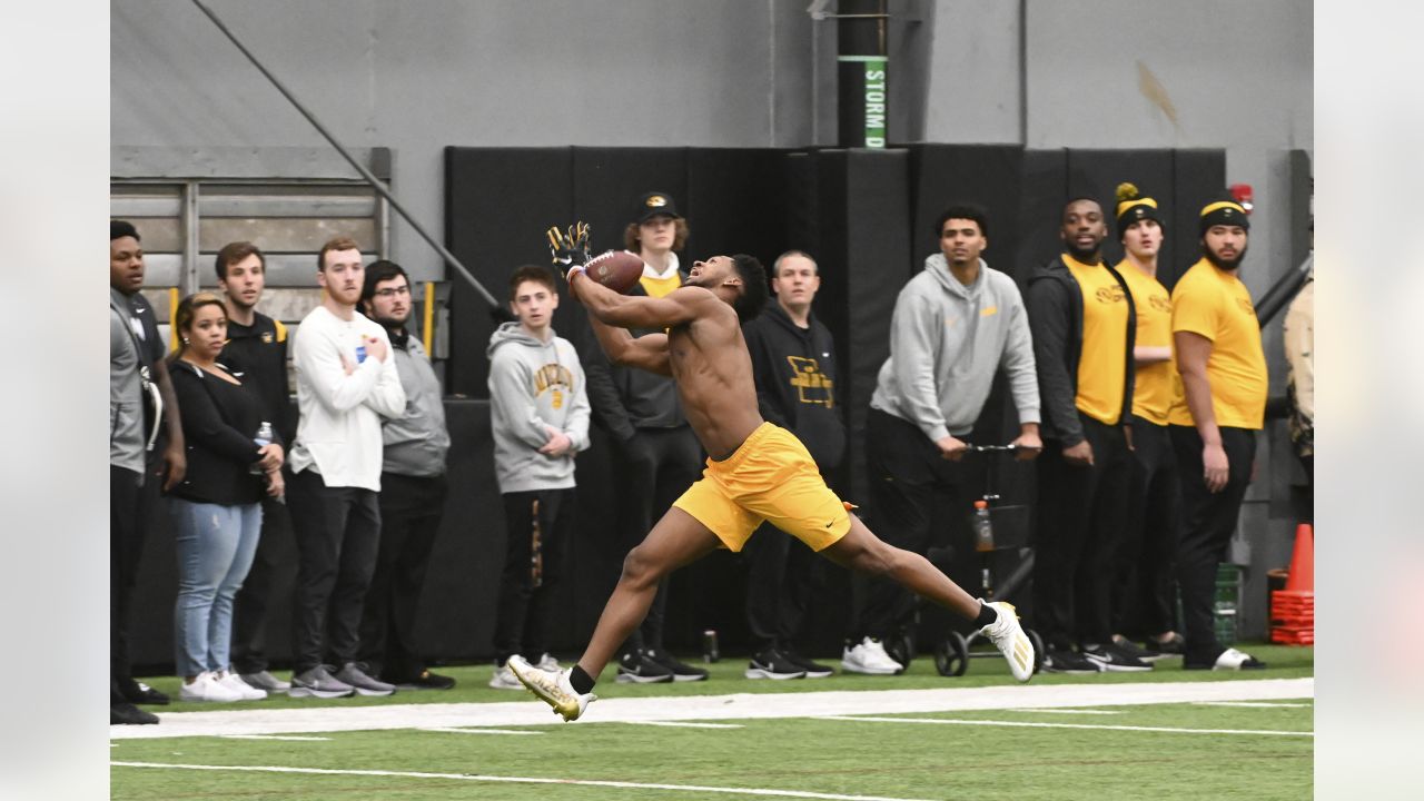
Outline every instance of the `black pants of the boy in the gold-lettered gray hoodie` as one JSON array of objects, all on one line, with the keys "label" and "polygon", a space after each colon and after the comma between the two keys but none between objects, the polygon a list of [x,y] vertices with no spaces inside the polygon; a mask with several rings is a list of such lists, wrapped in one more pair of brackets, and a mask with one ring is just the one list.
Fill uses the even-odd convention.
[{"label": "black pants of the boy in the gold-lettered gray hoodie", "polygon": [[544,489],[503,496],[508,539],[494,619],[497,664],[514,654],[538,661],[548,653],[548,624],[564,577],[575,495],[574,489]]}]

